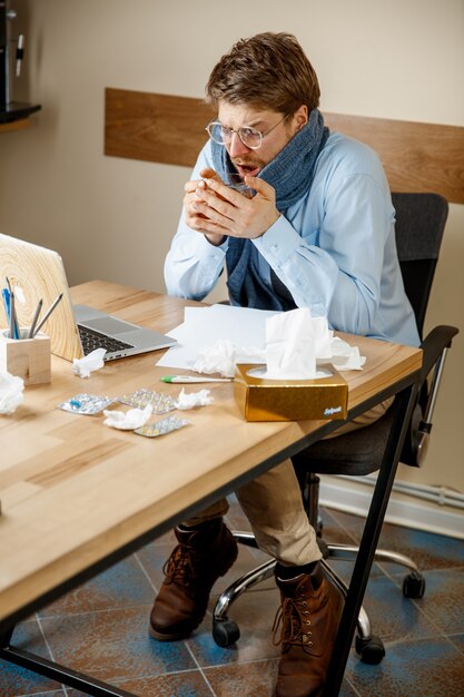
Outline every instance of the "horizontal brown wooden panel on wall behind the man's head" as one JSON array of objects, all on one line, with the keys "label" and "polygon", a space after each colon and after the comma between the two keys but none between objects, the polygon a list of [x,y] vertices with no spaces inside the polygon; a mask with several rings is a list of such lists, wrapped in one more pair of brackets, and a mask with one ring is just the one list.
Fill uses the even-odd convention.
[{"label": "horizontal brown wooden panel on wall behind the man's head", "polygon": [[[215,114],[200,99],[106,89],[105,154],[191,167]],[[325,114],[327,126],[371,145],[392,190],[435,192],[464,204],[464,127]]]}]

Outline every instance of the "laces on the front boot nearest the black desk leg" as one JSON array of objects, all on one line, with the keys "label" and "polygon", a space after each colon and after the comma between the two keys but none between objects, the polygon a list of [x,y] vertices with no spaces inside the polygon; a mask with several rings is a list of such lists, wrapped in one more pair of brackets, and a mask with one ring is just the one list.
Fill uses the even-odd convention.
[{"label": "laces on the front boot nearest the black desk leg", "polygon": [[[303,589],[297,591],[296,598],[285,598],[277,610],[273,625],[274,646],[283,645],[283,651],[288,651],[292,646],[303,649],[313,647],[310,630],[310,612]],[[280,637],[278,631],[280,629]]]}]

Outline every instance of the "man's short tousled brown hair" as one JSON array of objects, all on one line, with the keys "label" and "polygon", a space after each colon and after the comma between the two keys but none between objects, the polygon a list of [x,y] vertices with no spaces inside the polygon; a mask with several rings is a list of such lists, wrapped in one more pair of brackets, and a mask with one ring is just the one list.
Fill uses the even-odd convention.
[{"label": "man's short tousled brown hair", "polygon": [[303,104],[312,111],[319,105],[316,72],[290,33],[258,33],[240,39],[213,69],[206,101],[246,104],[282,114],[294,114]]}]

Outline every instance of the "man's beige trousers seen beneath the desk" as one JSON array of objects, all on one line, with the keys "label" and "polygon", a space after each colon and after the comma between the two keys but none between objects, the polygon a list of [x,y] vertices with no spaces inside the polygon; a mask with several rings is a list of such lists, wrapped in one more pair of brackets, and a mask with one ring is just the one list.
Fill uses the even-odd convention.
[{"label": "man's beige trousers seen beneath the desk", "polygon": [[[393,397],[345,424],[327,438],[335,438],[362,429],[379,419]],[[236,491],[237,499],[249,520],[259,549],[280,563],[300,566],[320,559],[316,532],[306,516],[302,492],[290,460],[265,472]],[[226,499],[221,499],[185,522],[195,526],[201,521],[225,516]]]}]

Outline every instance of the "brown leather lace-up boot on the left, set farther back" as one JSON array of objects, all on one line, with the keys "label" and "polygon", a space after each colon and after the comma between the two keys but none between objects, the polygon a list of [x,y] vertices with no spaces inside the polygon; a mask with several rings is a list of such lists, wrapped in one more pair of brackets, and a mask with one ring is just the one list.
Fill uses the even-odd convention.
[{"label": "brown leather lace-up boot on the left, set farther back", "polygon": [[209,593],[237,559],[238,549],[223,519],[201,529],[175,530],[179,544],[162,567],[166,578],[150,615],[158,641],[185,639],[203,621]]}]

